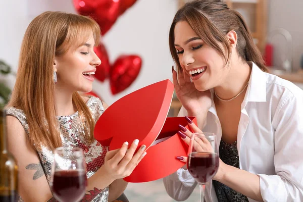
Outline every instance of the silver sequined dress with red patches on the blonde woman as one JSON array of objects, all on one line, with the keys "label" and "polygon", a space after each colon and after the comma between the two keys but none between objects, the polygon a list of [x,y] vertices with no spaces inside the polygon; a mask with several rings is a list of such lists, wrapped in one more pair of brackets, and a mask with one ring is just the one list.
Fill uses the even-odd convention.
[{"label": "silver sequined dress with red patches on the blonde woman", "polygon": [[[88,106],[94,121],[96,122],[100,115],[104,112],[104,107],[100,99],[91,96],[86,105]],[[28,124],[26,121],[26,116],[22,110],[18,110],[14,107],[11,107],[7,111],[8,115],[16,117],[24,127],[25,131],[29,134]],[[107,153],[107,147],[102,146],[96,140],[93,141],[90,145],[85,143],[85,137],[87,135],[84,134],[84,127],[81,124],[80,116],[78,112],[70,115],[70,116],[57,116],[61,139],[64,147],[80,147],[84,151],[85,161],[86,161],[86,169],[87,169],[87,178],[91,177],[103,164],[105,155]],[[54,154],[52,150],[47,149],[42,146],[41,151],[38,151],[38,155],[40,158],[40,162],[42,164],[44,174],[46,176],[47,182],[49,184],[51,180],[51,167],[54,161]],[[102,192],[100,192],[96,197],[94,197],[91,201],[102,201],[107,202],[109,195],[109,187],[105,188]],[[19,197],[19,201],[23,201],[21,197]]]}]

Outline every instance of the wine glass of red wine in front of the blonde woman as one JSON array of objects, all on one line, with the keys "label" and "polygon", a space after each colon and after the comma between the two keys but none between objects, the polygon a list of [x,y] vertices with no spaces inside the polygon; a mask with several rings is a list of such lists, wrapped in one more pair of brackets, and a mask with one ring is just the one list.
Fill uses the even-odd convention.
[{"label": "wine glass of red wine in front of the blonde woman", "polygon": [[86,163],[83,150],[78,147],[56,148],[52,166],[51,186],[60,202],[80,201],[87,185]]}]

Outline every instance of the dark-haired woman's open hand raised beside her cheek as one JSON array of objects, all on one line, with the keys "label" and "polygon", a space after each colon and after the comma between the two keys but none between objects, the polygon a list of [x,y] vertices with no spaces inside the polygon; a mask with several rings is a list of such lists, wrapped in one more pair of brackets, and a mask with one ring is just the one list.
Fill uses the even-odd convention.
[{"label": "dark-haired woman's open hand raised beside her cheek", "polygon": [[[190,77],[187,72],[180,71],[177,76],[177,72],[172,67],[173,83],[178,99],[182,106],[186,109],[189,116],[197,116],[200,113],[205,113],[212,106],[211,92],[198,91],[194,83],[190,81]],[[177,79],[178,77],[178,79]]]}]

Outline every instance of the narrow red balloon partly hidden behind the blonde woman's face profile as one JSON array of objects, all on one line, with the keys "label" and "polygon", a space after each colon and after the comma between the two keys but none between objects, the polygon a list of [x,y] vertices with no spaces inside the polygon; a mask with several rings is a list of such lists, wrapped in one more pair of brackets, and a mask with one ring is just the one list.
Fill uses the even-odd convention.
[{"label": "narrow red balloon partly hidden behind the blonde woman's face profile", "polygon": [[96,67],[97,71],[95,72],[94,77],[103,82],[110,75],[111,65],[109,56],[103,43],[100,43],[97,47],[94,47],[94,52],[101,60],[101,65]]}]

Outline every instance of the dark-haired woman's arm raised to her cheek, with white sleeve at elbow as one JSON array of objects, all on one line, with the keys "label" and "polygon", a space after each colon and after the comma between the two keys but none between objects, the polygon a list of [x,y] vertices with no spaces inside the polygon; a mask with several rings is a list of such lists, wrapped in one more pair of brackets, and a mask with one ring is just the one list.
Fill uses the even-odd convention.
[{"label": "dark-haired woman's arm raised to her cheek, with white sleeve at elbow", "polygon": [[[185,72],[177,75],[172,68],[172,74],[177,97],[182,103],[178,116],[195,116],[198,126],[203,128],[208,109],[212,106],[211,92],[198,91]],[[186,165],[163,178],[163,182],[167,193],[178,201],[186,200],[197,184],[186,170]]]}]

